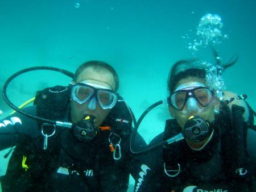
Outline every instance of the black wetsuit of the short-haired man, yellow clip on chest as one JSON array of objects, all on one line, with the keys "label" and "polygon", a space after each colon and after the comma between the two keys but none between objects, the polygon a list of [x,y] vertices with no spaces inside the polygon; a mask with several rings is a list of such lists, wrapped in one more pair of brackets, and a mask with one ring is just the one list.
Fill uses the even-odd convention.
[{"label": "black wetsuit of the short-haired man, yellow clip on chest", "polygon": [[[24,110],[36,115],[36,106]],[[15,124],[17,119],[11,118],[14,116],[21,124]],[[70,107],[59,120],[71,122]],[[36,120],[18,113],[2,119],[0,151],[16,146],[7,173],[1,177],[2,190],[127,191],[129,173],[137,177],[141,165],[129,150],[131,119],[119,119],[112,113],[104,125],[112,127],[113,122],[121,124],[119,132],[115,131],[122,137],[120,160],[114,160],[110,152],[109,130],[100,131],[92,141],[82,143],[68,128],[57,128],[55,135],[48,137],[47,150],[43,150],[44,137]],[[136,143],[139,148],[146,145],[140,136]]]}]

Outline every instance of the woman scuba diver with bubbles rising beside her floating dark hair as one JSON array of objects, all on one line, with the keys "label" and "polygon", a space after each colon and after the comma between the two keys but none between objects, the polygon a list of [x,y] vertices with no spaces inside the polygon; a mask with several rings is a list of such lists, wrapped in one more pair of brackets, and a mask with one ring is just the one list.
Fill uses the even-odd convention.
[{"label": "woman scuba diver with bubbles rising beside her floating dark hair", "polygon": [[218,89],[223,69],[236,61],[217,61],[214,73],[197,59],[172,66],[167,102],[173,119],[147,150],[136,152],[147,161],[134,191],[256,191],[255,112],[246,95]]}]

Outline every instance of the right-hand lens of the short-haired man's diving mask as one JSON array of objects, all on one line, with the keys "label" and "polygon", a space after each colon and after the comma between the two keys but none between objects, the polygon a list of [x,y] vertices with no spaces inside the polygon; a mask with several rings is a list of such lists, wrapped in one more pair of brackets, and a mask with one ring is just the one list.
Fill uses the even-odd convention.
[{"label": "right-hand lens of the short-haired man's diving mask", "polygon": [[110,91],[98,90],[97,97],[102,108],[112,108],[117,102],[117,95]]}]

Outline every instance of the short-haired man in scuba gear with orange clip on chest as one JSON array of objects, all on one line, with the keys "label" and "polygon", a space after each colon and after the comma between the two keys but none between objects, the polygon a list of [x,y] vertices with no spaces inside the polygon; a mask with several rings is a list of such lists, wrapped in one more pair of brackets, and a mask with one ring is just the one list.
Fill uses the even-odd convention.
[{"label": "short-haired man in scuba gear with orange clip on chest", "polygon": [[[34,106],[2,119],[0,150],[13,152],[2,191],[127,191],[141,165],[129,150],[135,119],[118,86],[112,66],[88,61],[71,85],[38,91]],[[146,146],[142,137],[136,146]]]}]

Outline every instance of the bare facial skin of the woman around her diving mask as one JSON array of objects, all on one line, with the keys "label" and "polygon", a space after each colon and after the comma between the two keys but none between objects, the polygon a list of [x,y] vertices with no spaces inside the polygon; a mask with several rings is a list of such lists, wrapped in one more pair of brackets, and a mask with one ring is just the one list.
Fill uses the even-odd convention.
[{"label": "bare facial skin of the woman around her diving mask", "polygon": [[[177,87],[179,86],[182,87],[183,85],[188,86],[187,89],[189,90],[190,85],[197,85],[197,84],[205,85],[205,81],[198,77],[184,78],[183,80],[180,80],[177,83],[175,90],[177,89]],[[215,116],[214,109],[218,109],[219,105],[220,105],[220,102],[214,96],[212,96],[212,99],[209,101],[209,104],[206,107],[201,106],[200,103],[195,98],[188,97],[187,102],[185,103],[185,106],[183,107],[182,110],[177,110],[176,108],[170,105],[169,111],[171,115],[174,118],[176,118],[177,123],[183,130],[184,124],[187,122],[188,118],[192,115],[193,116],[197,115],[204,120],[209,120],[209,122],[212,121]]]}]

